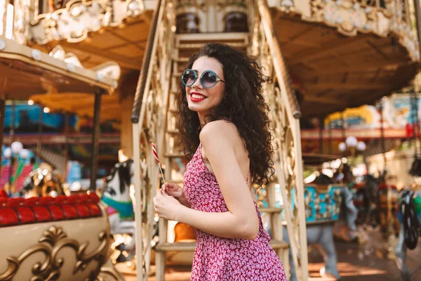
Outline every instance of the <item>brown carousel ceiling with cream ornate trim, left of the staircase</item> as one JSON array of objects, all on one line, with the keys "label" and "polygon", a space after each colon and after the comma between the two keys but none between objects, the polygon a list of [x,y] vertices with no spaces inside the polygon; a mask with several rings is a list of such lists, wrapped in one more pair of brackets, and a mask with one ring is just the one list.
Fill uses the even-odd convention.
[{"label": "brown carousel ceiling with cream ornate trim, left of the staircase", "polygon": [[[153,3],[152,3],[153,2]],[[25,43],[50,53],[58,44],[75,55],[83,67],[95,70],[109,61],[120,66],[116,95],[103,96],[100,119],[121,119],[121,100],[134,93],[145,53],[154,1],[70,1],[65,8],[38,15],[32,40]],[[145,3],[145,4],[144,4]],[[64,6],[64,5],[63,5]],[[31,97],[51,110],[93,116],[94,98],[83,91]]]}]

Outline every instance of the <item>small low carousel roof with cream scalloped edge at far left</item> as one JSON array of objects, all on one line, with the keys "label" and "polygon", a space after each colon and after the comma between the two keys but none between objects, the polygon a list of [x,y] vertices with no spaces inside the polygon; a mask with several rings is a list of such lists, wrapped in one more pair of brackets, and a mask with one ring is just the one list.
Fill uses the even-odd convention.
[{"label": "small low carousel roof with cream scalloped edge at far left", "polygon": [[[114,92],[119,79],[119,65],[104,63],[88,70],[72,53],[60,46],[43,53],[6,38],[0,39],[0,93],[6,99],[32,99],[51,110],[78,112],[93,117],[95,91]],[[118,96],[102,98],[114,105]],[[112,119],[102,110],[102,119]]]}]

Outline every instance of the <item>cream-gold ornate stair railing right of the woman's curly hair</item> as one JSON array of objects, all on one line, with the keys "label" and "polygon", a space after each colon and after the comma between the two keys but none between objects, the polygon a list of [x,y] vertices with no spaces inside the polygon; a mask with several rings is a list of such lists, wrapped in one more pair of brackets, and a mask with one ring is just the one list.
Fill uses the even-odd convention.
[{"label": "cream-gold ornate stair railing right of the woman's curly hair", "polygon": [[[258,58],[264,74],[272,79],[265,88],[274,128],[276,181],[281,188],[283,219],[286,221],[290,251],[298,280],[307,280],[307,230],[300,138],[300,108],[291,86],[285,60],[276,37],[272,16],[265,0],[249,1],[251,53]],[[293,193],[295,195],[293,196]],[[293,202],[294,201],[294,202]],[[295,209],[293,209],[295,206]]]}]

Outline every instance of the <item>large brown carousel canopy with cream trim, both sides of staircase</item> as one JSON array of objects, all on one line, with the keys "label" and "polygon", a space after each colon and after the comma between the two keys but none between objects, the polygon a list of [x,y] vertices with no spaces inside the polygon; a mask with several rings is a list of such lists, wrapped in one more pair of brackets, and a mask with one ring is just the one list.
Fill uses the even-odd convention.
[{"label": "large brown carousel canopy with cream trim, both sides of staircase", "polygon": [[[119,63],[117,92],[124,97],[135,91],[156,1],[138,1],[142,5],[136,7],[112,2],[121,3],[112,5],[112,20],[105,20],[111,7],[95,8],[96,1],[72,1],[54,13],[40,15],[32,27],[37,43],[32,46],[50,51],[60,41],[84,67],[107,60]],[[297,6],[286,2],[269,5],[293,84],[301,94],[303,117],[373,103],[407,86],[417,73],[417,37],[408,21],[394,17],[389,6],[349,6],[348,0],[309,1],[311,7],[307,1],[297,1]],[[189,11],[194,13],[194,9]],[[82,22],[83,32],[77,32],[85,13],[92,19]],[[69,18],[73,25],[68,24]],[[115,108],[111,103],[107,106],[103,105],[106,111]]]}]

